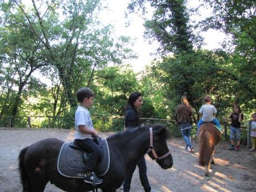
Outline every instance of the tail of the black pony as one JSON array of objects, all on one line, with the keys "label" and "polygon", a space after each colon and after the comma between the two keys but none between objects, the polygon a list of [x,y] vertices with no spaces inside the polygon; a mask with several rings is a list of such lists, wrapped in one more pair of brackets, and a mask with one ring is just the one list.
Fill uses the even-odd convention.
[{"label": "tail of the black pony", "polygon": [[26,167],[24,165],[24,157],[26,154],[28,147],[25,147],[24,149],[19,152],[19,177],[21,178],[21,184],[23,186],[23,192],[32,192],[32,184],[29,179]]}]

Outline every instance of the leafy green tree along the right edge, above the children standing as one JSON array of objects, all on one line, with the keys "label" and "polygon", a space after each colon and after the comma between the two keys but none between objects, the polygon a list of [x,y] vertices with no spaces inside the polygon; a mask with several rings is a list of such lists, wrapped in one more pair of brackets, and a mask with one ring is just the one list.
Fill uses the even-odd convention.
[{"label": "leafy green tree along the right edge, above the children standing", "polygon": [[[220,29],[231,35],[232,67],[223,70],[230,80],[245,87],[248,99],[256,99],[256,3],[255,1],[206,0],[213,7],[210,17],[200,22],[204,30]],[[228,47],[228,46],[225,46]],[[234,70],[235,69],[235,70]]]}]

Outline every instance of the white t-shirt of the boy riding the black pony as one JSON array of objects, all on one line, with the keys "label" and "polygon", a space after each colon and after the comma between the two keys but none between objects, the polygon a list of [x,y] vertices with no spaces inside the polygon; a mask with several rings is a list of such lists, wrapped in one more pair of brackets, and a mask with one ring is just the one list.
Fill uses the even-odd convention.
[{"label": "white t-shirt of the boy riding the black pony", "polygon": [[90,112],[85,107],[77,106],[75,115],[75,139],[92,139],[91,134],[84,134],[78,129],[78,125],[85,125],[88,129],[94,130]]}]

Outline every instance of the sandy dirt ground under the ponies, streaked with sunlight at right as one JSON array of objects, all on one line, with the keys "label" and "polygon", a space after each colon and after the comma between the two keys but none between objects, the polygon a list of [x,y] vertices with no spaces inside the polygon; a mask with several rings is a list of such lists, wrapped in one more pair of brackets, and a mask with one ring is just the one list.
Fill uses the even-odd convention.
[{"label": "sandy dirt ground under the ponies, streaked with sunlight at right", "polygon": [[[18,154],[23,147],[48,137],[72,141],[73,131],[53,129],[0,129],[0,191],[21,192],[18,175]],[[100,134],[106,137],[107,134]],[[204,169],[198,165],[198,142],[193,140],[193,153],[183,150],[183,139],[168,141],[174,159],[174,166],[163,170],[149,156],[147,175],[152,189],[157,191],[256,191],[256,152],[249,152],[245,146],[241,151],[229,151],[228,143],[221,142],[216,147],[215,165],[211,176],[204,176]],[[61,192],[55,185],[47,184],[45,192]],[[117,192],[120,192],[118,189]],[[143,192],[137,169],[132,178],[131,191]]]}]

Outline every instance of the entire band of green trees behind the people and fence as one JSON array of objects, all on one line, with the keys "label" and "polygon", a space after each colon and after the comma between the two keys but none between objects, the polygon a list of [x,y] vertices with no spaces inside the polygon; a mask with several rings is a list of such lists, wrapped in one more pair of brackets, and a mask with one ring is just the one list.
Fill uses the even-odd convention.
[{"label": "entire band of green trees behind the people and fence", "polygon": [[[112,26],[97,21],[100,1],[41,1],[30,9],[21,1],[1,1],[0,125],[9,126],[8,116],[14,115],[14,127],[27,127],[25,116],[31,116],[32,127],[73,128],[76,91],[86,86],[95,92],[90,113],[98,131],[124,129],[127,97],[134,91],[144,97],[142,118],[170,120],[143,123],[163,123],[173,136],[180,136],[171,120],[183,94],[196,115],[204,95],[213,96],[219,120],[240,104],[247,126],[256,99],[255,2],[205,2],[213,6],[213,14],[200,26],[231,34],[233,40],[224,43],[233,50],[196,48],[201,38],[190,26],[185,1],[131,1],[132,12],[141,8],[143,15],[146,4],[153,8],[152,18],[145,19],[145,36],[160,43],[163,56],[136,74],[122,65],[136,58],[131,39],[115,37]],[[35,72],[50,79],[51,86],[35,78]]]}]

